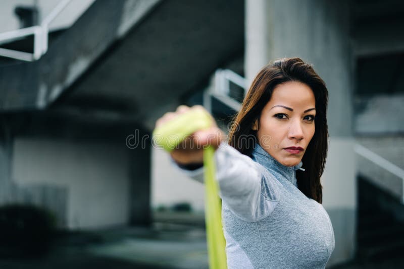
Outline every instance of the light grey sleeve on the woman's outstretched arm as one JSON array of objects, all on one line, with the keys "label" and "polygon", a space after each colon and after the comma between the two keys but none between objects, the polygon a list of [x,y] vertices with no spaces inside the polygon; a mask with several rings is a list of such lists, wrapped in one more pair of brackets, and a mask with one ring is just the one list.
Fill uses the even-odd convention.
[{"label": "light grey sleeve on the woman's outstretched arm", "polygon": [[[204,167],[184,169],[173,165],[190,178],[204,182]],[[275,184],[269,185],[258,163],[223,142],[215,151],[216,179],[219,195],[228,208],[244,221],[259,221],[268,217],[278,204]]]}]

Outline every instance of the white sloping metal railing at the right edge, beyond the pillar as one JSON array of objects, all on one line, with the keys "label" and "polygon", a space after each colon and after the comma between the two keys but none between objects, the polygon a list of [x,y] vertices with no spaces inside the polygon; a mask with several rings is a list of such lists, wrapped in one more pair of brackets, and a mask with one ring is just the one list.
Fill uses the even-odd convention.
[{"label": "white sloping metal railing at the right edge, beyond the pillar", "polygon": [[391,162],[387,161],[383,157],[377,155],[376,153],[370,151],[369,149],[365,148],[362,145],[355,144],[354,151],[361,155],[363,158],[371,161],[372,163],[376,164],[378,167],[390,172],[391,174],[401,178],[402,180],[402,187],[401,187],[401,203],[404,204],[404,170],[392,164]]}]

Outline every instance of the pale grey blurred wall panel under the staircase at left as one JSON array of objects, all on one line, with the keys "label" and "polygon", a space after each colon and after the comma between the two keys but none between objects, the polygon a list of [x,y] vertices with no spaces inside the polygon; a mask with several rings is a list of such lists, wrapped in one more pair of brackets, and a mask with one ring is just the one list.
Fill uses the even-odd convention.
[{"label": "pale grey blurred wall panel under the staircase at left", "polygon": [[[19,188],[47,185],[65,190],[66,200],[54,208],[65,220],[64,226],[78,229],[128,223],[129,163],[122,145],[17,138],[13,152],[12,178]],[[40,204],[43,199],[41,194],[26,195],[25,202]]]}]

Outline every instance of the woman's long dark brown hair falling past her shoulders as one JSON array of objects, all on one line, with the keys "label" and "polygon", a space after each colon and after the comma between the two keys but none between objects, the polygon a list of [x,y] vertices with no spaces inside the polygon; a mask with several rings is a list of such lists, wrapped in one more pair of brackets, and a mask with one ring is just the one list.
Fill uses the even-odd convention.
[{"label": "woman's long dark brown hair falling past her shoulders", "polygon": [[299,190],[321,204],[323,191],[320,177],[324,172],[328,151],[326,118],[328,90],[312,65],[300,58],[281,58],[266,65],[252,82],[240,111],[234,116],[229,133],[229,144],[242,154],[251,157],[258,140],[257,131],[251,129],[252,123],[257,119],[258,124],[260,123],[261,111],[271,99],[274,88],[290,81],[308,85],[316,99],[316,128],[302,158],[306,170],[297,170],[296,179]]}]

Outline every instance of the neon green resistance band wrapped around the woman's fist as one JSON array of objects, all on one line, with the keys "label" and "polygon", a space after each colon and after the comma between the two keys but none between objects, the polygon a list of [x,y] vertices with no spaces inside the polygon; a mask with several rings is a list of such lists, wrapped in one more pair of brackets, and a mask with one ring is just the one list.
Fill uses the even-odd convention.
[{"label": "neon green resistance band wrapped around the woman's fist", "polygon": [[[202,109],[191,109],[163,123],[153,131],[153,140],[166,151],[171,152],[191,133],[209,128],[213,118]],[[215,149],[212,146],[204,148],[205,167],[205,221],[208,241],[209,267],[211,269],[226,269],[226,242],[223,236],[221,201],[219,186],[215,179],[216,167],[214,160]]]}]

